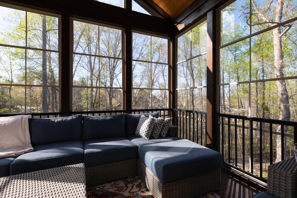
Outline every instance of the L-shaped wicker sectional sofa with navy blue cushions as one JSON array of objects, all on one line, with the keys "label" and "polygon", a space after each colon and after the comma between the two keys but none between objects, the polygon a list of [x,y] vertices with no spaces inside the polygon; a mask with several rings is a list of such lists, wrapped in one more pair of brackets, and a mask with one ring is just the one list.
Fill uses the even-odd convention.
[{"label": "L-shaped wicker sectional sofa with navy blue cushions", "polygon": [[177,137],[176,126],[166,137],[136,136],[141,115],[159,116],[30,118],[34,151],[0,159],[0,177],[84,163],[87,185],[138,174],[156,198],[193,197],[220,187],[220,153]]}]

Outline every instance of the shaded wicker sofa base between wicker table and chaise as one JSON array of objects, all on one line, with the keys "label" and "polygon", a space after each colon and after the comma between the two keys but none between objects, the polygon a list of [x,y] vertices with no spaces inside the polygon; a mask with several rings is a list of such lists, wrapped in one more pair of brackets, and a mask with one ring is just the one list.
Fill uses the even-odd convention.
[{"label": "shaded wicker sofa base between wicker table and chaise", "polygon": [[86,167],[87,185],[99,184],[137,174],[136,158]]}]

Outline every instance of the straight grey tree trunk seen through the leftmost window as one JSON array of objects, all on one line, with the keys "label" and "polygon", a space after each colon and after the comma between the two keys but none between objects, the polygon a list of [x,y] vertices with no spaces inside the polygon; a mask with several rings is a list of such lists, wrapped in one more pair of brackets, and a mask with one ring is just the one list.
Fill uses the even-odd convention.
[{"label": "straight grey tree trunk seen through the leftmost window", "polygon": [[[41,15],[42,18],[42,49],[46,49],[46,16]],[[46,51],[42,51],[42,85],[47,85],[47,71],[46,71]],[[47,87],[42,87],[42,112],[48,112],[47,102]],[[38,109],[37,109],[38,111]]]}]

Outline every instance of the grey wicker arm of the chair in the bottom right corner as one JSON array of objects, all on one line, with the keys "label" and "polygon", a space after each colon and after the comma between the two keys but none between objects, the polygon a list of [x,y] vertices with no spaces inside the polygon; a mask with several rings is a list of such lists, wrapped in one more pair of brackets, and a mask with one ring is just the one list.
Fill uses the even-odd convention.
[{"label": "grey wicker arm of the chair in the bottom right corner", "polygon": [[267,192],[278,198],[297,198],[297,163],[294,157],[268,166]]}]

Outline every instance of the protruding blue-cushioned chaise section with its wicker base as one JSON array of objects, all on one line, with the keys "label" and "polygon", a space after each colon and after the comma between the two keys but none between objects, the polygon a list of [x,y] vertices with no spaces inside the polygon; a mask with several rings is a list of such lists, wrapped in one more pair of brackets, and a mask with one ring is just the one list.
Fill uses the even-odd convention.
[{"label": "protruding blue-cushioned chaise section with its wicker base", "polygon": [[181,139],[139,146],[138,175],[155,198],[194,197],[219,189],[222,155]]}]

